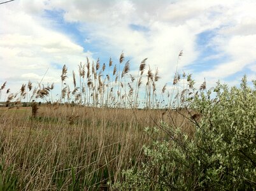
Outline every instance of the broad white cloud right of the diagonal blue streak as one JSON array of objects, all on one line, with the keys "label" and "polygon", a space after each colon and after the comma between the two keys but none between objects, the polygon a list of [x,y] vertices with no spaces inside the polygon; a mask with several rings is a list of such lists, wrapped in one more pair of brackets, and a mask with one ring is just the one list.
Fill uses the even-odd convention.
[{"label": "broad white cloud right of the diagonal blue streak", "polygon": [[[236,31],[229,33],[232,37],[239,31],[236,28],[242,23],[253,33],[253,4],[253,1],[174,1],[171,4],[167,1],[76,1],[70,6],[59,1],[54,5],[66,11],[66,20],[85,22],[84,29],[90,32],[91,39],[100,39],[102,46],[111,47],[109,52],[115,52],[118,56],[120,51],[124,50],[125,54],[134,57],[133,61],[138,64],[139,60],[148,57],[148,62],[158,66],[164,74],[173,74],[176,55],[181,49],[184,50],[184,57],[180,61],[180,67],[190,64],[199,55],[195,49],[196,35],[199,32],[225,25],[218,35]],[[148,28],[148,32],[132,31],[130,24],[143,25]],[[236,38],[237,36],[222,39],[222,45],[215,40],[213,45],[231,57],[241,58],[241,54],[236,55],[236,51],[232,52],[225,47],[225,40],[231,41],[227,44],[238,47],[239,43],[232,42]],[[245,52],[246,47],[240,49]],[[228,73],[224,74],[227,75]]]}]

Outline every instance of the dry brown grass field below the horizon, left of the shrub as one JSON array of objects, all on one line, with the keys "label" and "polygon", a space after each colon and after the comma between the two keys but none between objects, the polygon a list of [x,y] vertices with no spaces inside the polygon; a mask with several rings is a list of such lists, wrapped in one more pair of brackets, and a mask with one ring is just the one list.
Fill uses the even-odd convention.
[{"label": "dry brown grass field below the horizon, left of the shrub", "polygon": [[[1,160],[22,190],[107,189],[121,172],[143,161],[145,127],[168,121],[174,111],[81,106],[0,108]],[[191,131],[176,113],[177,125]]]}]

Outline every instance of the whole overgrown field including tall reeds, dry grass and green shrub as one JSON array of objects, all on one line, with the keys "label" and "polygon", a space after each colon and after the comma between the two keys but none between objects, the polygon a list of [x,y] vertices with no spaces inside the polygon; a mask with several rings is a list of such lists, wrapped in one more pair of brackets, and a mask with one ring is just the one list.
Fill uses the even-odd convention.
[{"label": "whole overgrown field including tall reeds, dry grass and green shrub", "polygon": [[159,91],[145,68],[132,76],[122,53],[68,81],[64,65],[57,97],[53,83],[3,83],[0,191],[255,190],[256,81],[196,89],[176,71]]}]

